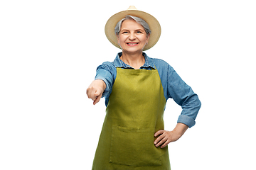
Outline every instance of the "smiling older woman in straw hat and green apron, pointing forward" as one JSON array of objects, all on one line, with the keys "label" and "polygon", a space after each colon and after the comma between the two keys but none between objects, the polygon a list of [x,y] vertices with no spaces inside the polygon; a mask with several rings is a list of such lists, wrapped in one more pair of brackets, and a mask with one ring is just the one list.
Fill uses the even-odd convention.
[{"label": "smiling older woman in straw hat and green apron, pointing forward", "polygon": [[[159,40],[156,18],[130,6],[107,21],[105,33],[122,52],[97,67],[87,89],[93,104],[105,97],[107,106],[92,169],[171,169],[167,145],[195,125],[201,102],[168,63],[143,52]],[[172,131],[164,130],[168,98],[182,108]]]}]

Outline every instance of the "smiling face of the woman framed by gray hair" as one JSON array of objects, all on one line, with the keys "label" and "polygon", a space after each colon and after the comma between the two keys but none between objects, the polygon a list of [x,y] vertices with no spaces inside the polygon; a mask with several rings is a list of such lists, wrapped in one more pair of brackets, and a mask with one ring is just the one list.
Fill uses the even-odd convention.
[{"label": "smiling face of the woman framed by gray hair", "polygon": [[146,43],[149,42],[149,35],[146,35],[143,26],[136,21],[125,20],[122,22],[117,40],[124,52],[136,53],[142,52]]}]

